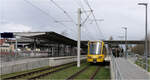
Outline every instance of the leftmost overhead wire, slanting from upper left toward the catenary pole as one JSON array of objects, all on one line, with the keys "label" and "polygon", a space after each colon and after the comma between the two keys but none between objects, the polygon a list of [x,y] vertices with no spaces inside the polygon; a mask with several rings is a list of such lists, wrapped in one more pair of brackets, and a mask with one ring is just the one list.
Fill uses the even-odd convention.
[{"label": "leftmost overhead wire, slanting from upper left toward the catenary pole", "polygon": [[[24,0],[26,3],[28,3],[28,4],[30,4],[32,7],[34,7],[34,8],[36,8],[36,9],[38,9],[39,11],[41,11],[43,14],[45,14],[45,15],[47,15],[47,16],[49,16],[51,19],[53,19],[53,21],[55,22],[55,23],[59,23],[60,25],[63,25],[64,27],[67,27],[68,29],[70,29],[71,31],[70,32],[72,32],[72,31],[74,31],[73,29],[71,29],[70,27],[68,27],[68,26],[66,26],[64,23],[62,23],[62,22],[58,22],[54,17],[52,17],[49,13],[47,13],[47,12],[45,12],[44,10],[42,10],[41,8],[39,8],[39,7],[37,7],[37,6],[35,6],[34,4],[32,4],[30,1],[28,1],[28,0]],[[75,37],[75,36],[74,36]]]}]

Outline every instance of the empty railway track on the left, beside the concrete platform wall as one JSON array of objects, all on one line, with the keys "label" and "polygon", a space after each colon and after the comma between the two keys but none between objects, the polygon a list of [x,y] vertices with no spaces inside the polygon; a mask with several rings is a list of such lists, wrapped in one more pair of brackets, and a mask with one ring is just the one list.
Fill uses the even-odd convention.
[{"label": "empty railway track on the left, beside the concrete platform wall", "polygon": [[[66,65],[69,65],[66,67]],[[68,68],[68,67],[71,67],[73,65],[76,65],[75,62],[72,62],[72,63],[67,63],[67,64],[63,64],[63,65],[59,65],[59,66],[54,66],[54,67],[48,67],[48,68],[44,68],[44,69],[40,69],[40,70],[36,70],[36,71],[32,71],[32,72],[27,72],[27,73],[23,73],[23,74],[19,74],[19,75],[16,75],[16,76],[11,76],[11,77],[7,77],[7,78],[3,78],[2,80],[11,80],[11,79],[22,79],[22,78],[27,78],[28,80],[30,79],[34,79],[34,78],[38,78],[38,77],[41,77],[40,75],[38,76],[34,76],[34,77],[29,77],[28,76],[31,76],[31,75],[35,75],[35,74],[40,74],[40,73],[44,73],[44,75],[46,74],[50,74],[50,73],[54,73],[54,72],[58,72],[59,70],[62,70],[62,69],[65,69],[65,68]],[[56,71],[53,71],[55,70]],[[51,71],[51,72],[49,72]],[[48,73],[45,73],[45,72],[48,72]],[[42,75],[42,76],[44,76]]]}]

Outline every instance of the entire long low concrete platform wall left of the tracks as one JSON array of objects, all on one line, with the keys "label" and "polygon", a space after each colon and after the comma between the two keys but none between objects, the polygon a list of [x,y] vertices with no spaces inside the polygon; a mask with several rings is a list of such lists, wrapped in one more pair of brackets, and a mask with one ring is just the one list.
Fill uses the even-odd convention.
[{"label": "entire long low concrete platform wall left of the tracks", "polygon": [[[81,59],[86,59],[86,56],[81,56]],[[20,62],[11,62],[6,65],[0,66],[0,74],[8,74],[13,72],[19,72],[24,70],[30,70],[34,68],[40,68],[44,66],[57,66],[69,62],[76,61],[76,56],[68,56],[68,57],[55,57],[55,58],[43,58],[29,61],[20,61]]]}]

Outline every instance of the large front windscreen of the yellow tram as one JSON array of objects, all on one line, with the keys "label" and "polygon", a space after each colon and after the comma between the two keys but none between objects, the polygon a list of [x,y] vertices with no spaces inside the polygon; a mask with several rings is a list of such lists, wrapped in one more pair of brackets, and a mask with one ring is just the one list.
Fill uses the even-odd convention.
[{"label": "large front windscreen of the yellow tram", "polygon": [[101,53],[101,44],[100,42],[92,42],[89,45],[90,52],[89,54],[96,55]]}]

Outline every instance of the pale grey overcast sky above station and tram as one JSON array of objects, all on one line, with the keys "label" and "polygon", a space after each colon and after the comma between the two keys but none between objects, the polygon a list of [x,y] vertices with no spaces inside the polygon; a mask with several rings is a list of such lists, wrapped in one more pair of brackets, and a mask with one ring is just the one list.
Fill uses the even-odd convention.
[{"label": "pale grey overcast sky above station and tram", "polygon": [[[77,9],[82,6],[82,21],[90,9],[84,0],[53,0],[64,9],[71,18],[52,3],[51,0],[0,0],[0,32],[12,31],[55,31],[65,32],[70,38],[77,39]],[[93,22],[93,16],[82,26],[83,40],[121,39],[124,35],[121,27],[128,28],[128,39],[144,38],[144,6],[139,2],[147,2],[150,14],[149,0],[88,0],[93,9],[100,30]],[[72,20],[73,19],[73,22]],[[150,15],[148,16],[150,25]],[[59,21],[59,22],[56,22]],[[64,22],[65,21],[65,22]],[[101,32],[100,32],[101,31]],[[123,39],[123,38],[122,38]]]}]

